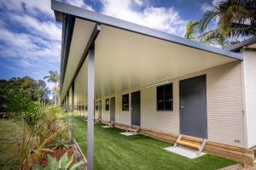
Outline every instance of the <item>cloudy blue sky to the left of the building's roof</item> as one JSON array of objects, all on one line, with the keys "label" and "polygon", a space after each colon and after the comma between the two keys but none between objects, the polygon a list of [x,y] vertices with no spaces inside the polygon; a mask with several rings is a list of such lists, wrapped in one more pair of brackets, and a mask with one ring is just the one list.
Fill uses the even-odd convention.
[{"label": "cloudy blue sky to the left of the building's roof", "polygon": [[50,0],[1,0],[0,10],[5,16],[0,18],[0,58],[33,74],[59,67],[61,25]]}]

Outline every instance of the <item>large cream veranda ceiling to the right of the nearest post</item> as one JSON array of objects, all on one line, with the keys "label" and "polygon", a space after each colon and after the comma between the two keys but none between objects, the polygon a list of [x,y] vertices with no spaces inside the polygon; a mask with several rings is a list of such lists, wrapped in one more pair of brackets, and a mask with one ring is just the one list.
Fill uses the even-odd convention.
[{"label": "large cream veranda ceiling to the right of the nearest post", "polygon": [[237,60],[110,26],[95,49],[97,98]]}]

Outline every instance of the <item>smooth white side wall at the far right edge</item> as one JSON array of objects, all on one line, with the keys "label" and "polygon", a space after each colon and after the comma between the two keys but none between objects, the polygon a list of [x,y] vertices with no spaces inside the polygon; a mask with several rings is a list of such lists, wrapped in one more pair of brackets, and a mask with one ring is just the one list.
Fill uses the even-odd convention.
[{"label": "smooth white side wall at the far right edge", "polygon": [[247,148],[251,148],[256,145],[256,52],[244,49],[243,54]]}]

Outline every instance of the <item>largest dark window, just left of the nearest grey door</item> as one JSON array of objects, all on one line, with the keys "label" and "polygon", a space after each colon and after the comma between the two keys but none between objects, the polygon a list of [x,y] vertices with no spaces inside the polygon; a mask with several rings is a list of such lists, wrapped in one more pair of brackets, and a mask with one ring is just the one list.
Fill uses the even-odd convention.
[{"label": "largest dark window, just left of the nearest grey door", "polygon": [[157,87],[157,111],[172,111],[172,83]]}]

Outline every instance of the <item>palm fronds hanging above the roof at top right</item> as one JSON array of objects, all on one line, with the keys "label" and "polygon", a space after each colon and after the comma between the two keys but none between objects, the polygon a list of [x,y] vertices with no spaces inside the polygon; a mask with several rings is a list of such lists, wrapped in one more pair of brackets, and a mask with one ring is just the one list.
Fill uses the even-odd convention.
[{"label": "palm fronds hanging above the roof at top right", "polygon": [[227,0],[207,11],[200,21],[201,32],[206,31],[212,20],[218,19],[221,37],[256,35],[256,2],[254,0]]}]

